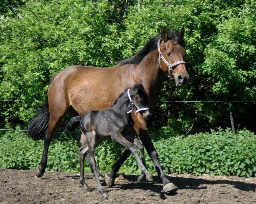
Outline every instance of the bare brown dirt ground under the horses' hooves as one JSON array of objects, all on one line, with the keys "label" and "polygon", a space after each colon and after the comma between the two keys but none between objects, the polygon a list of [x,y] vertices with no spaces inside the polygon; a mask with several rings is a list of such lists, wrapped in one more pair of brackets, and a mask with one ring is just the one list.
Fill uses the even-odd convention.
[{"label": "bare brown dirt ground under the horses' hooves", "polygon": [[169,179],[178,187],[175,194],[164,194],[163,186],[154,176],[154,182],[137,184],[136,175],[116,178],[114,187],[107,187],[109,198],[103,199],[96,181],[87,174],[90,192],[84,192],[77,173],[46,172],[35,177],[33,170],[0,169],[0,204],[9,203],[128,203],[128,204],[253,204],[256,203],[256,178],[237,176],[193,176],[171,174]]}]

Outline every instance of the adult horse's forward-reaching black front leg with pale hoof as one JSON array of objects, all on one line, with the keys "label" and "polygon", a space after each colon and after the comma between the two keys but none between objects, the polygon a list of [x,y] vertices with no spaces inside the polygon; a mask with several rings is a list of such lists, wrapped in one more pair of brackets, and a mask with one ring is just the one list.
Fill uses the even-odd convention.
[{"label": "adult horse's forward-reaching black front leg with pale hoof", "polygon": [[169,181],[168,178],[166,178],[166,176],[160,166],[160,163],[158,161],[157,151],[154,148],[154,144],[151,141],[146,122],[143,119],[142,115],[141,114],[136,114],[136,115],[132,114],[132,118],[134,120],[134,129],[137,132],[138,136],[140,137],[141,141],[143,142],[143,144],[148,152],[148,155],[152,159],[152,161],[156,167],[157,175],[160,178],[160,181],[163,182],[163,191],[165,193],[167,193],[169,191],[176,191],[178,187],[175,186],[175,184],[173,184],[171,181]]}]

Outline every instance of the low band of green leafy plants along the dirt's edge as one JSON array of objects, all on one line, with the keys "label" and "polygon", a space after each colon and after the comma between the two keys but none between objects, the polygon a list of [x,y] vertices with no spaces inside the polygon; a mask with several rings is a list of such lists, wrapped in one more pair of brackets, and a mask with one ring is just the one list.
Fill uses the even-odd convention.
[{"label": "low band of green leafy plants along the dirt's edge", "polygon": [[[255,176],[256,135],[248,130],[233,134],[230,130],[199,133],[196,136],[154,136],[154,146],[166,173],[194,173],[201,175]],[[79,171],[79,134],[61,134],[49,148],[47,170]],[[0,167],[35,169],[43,153],[43,141],[34,142],[24,133],[8,132],[0,135]],[[95,152],[101,172],[110,172],[123,148],[105,141]],[[155,173],[154,164],[146,153],[148,169]],[[86,172],[90,172],[86,164]],[[130,156],[120,172],[140,173],[134,156]]]}]

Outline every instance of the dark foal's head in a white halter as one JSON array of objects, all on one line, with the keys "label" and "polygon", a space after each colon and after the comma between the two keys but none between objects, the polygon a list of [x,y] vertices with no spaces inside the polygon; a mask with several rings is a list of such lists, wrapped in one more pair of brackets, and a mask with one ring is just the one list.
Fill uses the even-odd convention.
[{"label": "dark foal's head in a white halter", "polygon": [[[145,108],[148,106],[148,94],[146,93],[141,81],[138,85],[130,88],[129,94],[134,102],[133,107],[131,107],[132,109],[134,108],[134,111],[138,110],[138,108]],[[148,119],[151,116],[149,110],[140,111],[140,114],[144,119]]]}]

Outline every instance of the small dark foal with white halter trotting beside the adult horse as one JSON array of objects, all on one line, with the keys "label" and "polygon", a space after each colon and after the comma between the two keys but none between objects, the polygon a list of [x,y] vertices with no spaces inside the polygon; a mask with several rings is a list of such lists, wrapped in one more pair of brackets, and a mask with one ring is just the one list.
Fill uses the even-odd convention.
[{"label": "small dark foal with white halter trotting beside the adult horse", "polygon": [[[134,154],[141,171],[146,175],[148,181],[152,181],[152,176],[140,161],[136,147],[134,146],[133,125],[131,111],[138,113],[143,111],[142,115],[146,119],[149,115],[149,108],[145,107],[148,103],[148,96],[142,85],[135,85],[124,91],[117,99],[116,103],[105,111],[90,111],[80,122],[81,129],[81,148],[80,156],[80,183],[85,189],[89,187],[84,181],[84,158],[89,153],[90,168],[98,184],[98,190],[103,197],[107,198],[108,194],[103,189],[96,170],[96,161],[94,159],[94,149],[108,137],[113,141],[122,144],[131,153]],[[136,110],[134,109],[136,107]],[[143,108],[141,108],[143,107]]]}]

